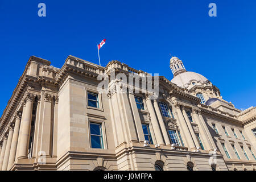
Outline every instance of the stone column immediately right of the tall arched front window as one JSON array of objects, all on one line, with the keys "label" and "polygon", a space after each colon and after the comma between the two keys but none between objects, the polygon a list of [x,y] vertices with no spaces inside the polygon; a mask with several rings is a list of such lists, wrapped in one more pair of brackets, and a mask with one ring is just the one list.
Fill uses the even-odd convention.
[{"label": "stone column immediately right of the tall arched front window", "polygon": [[174,106],[177,111],[177,116],[179,117],[181,130],[183,130],[183,133],[185,134],[185,140],[188,143],[188,147],[191,151],[196,150],[195,142],[192,139],[191,133],[187,126],[187,122],[185,121],[183,114],[181,113],[180,104],[178,102],[174,102]]}]

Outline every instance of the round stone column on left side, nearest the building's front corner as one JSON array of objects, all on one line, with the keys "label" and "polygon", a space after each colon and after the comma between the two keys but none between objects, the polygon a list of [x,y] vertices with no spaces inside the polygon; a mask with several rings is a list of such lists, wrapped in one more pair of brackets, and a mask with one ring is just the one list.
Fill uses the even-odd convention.
[{"label": "round stone column on left side, nearest the building's front corner", "polygon": [[[28,142],[30,139],[30,129],[31,129],[31,118],[32,118],[32,106],[35,96],[32,94],[27,94],[26,107],[24,110],[24,119],[22,123],[22,132],[20,134],[20,144],[19,144],[19,154],[18,159],[28,158]],[[23,117],[23,115],[22,115]]]}]

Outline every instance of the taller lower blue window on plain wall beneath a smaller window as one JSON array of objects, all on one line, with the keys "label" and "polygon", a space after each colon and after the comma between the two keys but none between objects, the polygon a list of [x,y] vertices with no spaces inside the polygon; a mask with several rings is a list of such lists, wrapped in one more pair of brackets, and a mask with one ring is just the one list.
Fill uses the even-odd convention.
[{"label": "taller lower blue window on plain wall beneath a smaller window", "polygon": [[104,148],[101,125],[98,123],[90,123],[90,142],[92,148]]}]

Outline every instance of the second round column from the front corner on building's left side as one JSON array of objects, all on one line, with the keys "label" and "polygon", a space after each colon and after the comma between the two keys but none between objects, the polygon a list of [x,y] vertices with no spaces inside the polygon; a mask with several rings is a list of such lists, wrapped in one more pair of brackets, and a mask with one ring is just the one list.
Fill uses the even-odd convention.
[{"label": "second round column from the front corner on building's left side", "polygon": [[11,150],[10,150],[10,156],[9,156],[7,170],[10,170],[11,166],[13,166],[13,164],[14,164],[16,150],[17,150],[17,144],[18,144],[21,115],[22,115],[22,113],[20,111],[18,111],[16,113],[16,117],[15,117],[16,121],[15,121],[15,126],[14,126],[13,139],[11,140]]}]

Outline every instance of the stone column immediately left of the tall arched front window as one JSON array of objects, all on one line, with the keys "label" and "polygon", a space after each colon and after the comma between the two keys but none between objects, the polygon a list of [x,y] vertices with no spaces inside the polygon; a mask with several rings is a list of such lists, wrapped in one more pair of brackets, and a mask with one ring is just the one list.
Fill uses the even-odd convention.
[{"label": "stone column immediately left of the tall arched front window", "polygon": [[146,97],[146,104],[147,104],[147,109],[150,112],[150,117],[151,117],[152,127],[153,127],[153,130],[155,133],[156,142],[158,144],[163,145],[164,141],[162,138],[162,133],[161,133],[160,127],[158,125],[158,119],[156,118],[155,110],[152,105],[152,102],[151,102],[150,98],[148,98],[148,97]]}]

